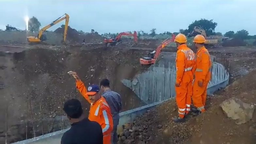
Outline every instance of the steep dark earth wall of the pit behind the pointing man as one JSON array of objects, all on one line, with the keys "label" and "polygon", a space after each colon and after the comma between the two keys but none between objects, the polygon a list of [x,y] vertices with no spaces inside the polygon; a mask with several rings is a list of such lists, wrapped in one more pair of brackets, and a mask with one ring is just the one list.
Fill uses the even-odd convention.
[{"label": "steep dark earth wall of the pit behind the pointing man", "polygon": [[[85,113],[89,104],[75,89],[75,82],[67,72],[76,71],[86,85],[98,84],[109,78],[111,88],[121,94],[123,111],[140,105],[140,100],[120,82],[132,78],[143,71],[139,58],[145,54],[140,50],[125,50],[100,47],[91,50],[66,47],[65,50],[34,48],[19,53],[0,55],[0,91],[2,100],[0,114],[5,120],[8,106],[8,142],[25,138],[26,119],[28,119],[28,138],[33,136],[30,104],[34,117],[36,136],[60,129],[59,115],[63,103],[70,98],[81,100]],[[28,114],[27,114],[28,109]],[[62,118],[64,119],[64,118]],[[62,128],[68,123],[63,124]],[[0,125],[0,143],[5,141],[5,123]]]}]

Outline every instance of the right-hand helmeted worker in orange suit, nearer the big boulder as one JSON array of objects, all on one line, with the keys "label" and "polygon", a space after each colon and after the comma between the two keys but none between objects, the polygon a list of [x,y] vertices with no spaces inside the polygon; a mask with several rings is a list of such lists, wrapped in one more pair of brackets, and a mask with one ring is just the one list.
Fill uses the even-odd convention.
[{"label": "right-hand helmeted worker in orange suit, nearer the big boulder", "polygon": [[195,36],[193,42],[197,48],[196,65],[192,70],[195,74],[192,100],[196,109],[193,108],[191,111],[203,113],[205,112],[207,85],[211,79],[212,62],[208,50],[204,47],[204,36]]}]

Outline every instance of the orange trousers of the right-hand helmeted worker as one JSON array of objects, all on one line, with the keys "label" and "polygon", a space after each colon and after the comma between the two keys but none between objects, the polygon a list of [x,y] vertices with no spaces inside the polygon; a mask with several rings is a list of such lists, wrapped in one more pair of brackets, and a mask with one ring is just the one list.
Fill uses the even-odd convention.
[{"label": "orange trousers of the right-hand helmeted worker", "polygon": [[206,103],[206,96],[207,96],[207,86],[209,81],[211,80],[211,72],[208,72],[206,75],[206,79],[203,80],[203,86],[198,86],[198,76],[197,72],[195,74],[195,81],[193,84],[193,95],[192,100],[193,104],[196,108],[199,110],[204,109],[205,103]]}]

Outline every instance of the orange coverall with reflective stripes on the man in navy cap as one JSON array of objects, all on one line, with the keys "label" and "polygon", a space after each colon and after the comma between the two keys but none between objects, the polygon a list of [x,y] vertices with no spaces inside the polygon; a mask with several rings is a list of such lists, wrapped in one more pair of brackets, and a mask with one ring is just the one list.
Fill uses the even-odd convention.
[{"label": "orange coverall with reflective stripes on the man in navy cap", "polygon": [[101,97],[95,103],[91,103],[87,88],[82,81],[76,81],[76,88],[80,91],[83,97],[91,104],[88,119],[96,121],[101,125],[103,132],[103,144],[111,144],[111,132],[113,130],[113,120],[110,108],[104,97]]}]

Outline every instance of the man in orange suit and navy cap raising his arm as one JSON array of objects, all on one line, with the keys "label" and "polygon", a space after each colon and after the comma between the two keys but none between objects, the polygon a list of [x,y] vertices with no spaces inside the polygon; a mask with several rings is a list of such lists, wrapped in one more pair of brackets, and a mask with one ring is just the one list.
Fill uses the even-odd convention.
[{"label": "man in orange suit and navy cap raising his arm", "polygon": [[90,85],[85,87],[76,72],[68,72],[76,81],[76,88],[83,97],[91,104],[88,119],[98,122],[102,127],[103,144],[111,144],[111,133],[113,130],[113,120],[105,98],[100,95],[100,87],[98,85]]}]

